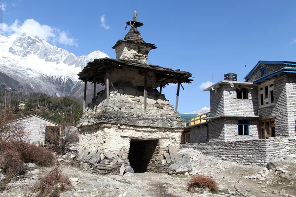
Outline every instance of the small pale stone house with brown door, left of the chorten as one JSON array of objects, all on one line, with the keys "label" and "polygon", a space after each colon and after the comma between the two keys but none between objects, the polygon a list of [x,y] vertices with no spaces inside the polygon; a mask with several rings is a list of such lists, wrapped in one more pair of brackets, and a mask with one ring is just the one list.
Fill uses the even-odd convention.
[{"label": "small pale stone house with brown door, left of the chorten", "polygon": [[10,124],[17,126],[20,132],[24,132],[24,138],[28,142],[41,146],[48,142],[49,135],[51,137],[54,134],[58,138],[62,128],[60,124],[36,114],[16,119]]}]

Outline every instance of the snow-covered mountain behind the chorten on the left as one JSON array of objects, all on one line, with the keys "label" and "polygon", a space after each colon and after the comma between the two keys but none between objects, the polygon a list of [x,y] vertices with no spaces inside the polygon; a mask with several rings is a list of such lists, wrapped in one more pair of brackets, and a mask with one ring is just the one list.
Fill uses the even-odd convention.
[{"label": "snow-covered mountain behind the chorten on the left", "polygon": [[0,35],[0,87],[79,97],[83,89],[77,74],[88,62],[105,57],[101,51],[76,57],[27,33]]}]

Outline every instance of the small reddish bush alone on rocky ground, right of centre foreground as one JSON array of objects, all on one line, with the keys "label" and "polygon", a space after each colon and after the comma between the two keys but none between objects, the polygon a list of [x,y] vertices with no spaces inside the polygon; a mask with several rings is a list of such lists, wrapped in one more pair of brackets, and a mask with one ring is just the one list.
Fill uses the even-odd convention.
[{"label": "small reddish bush alone on rocky ground, right of centre foreground", "polygon": [[218,193],[218,185],[214,179],[204,175],[197,175],[190,179],[188,183],[188,191],[196,193],[196,188],[208,189],[211,193]]}]

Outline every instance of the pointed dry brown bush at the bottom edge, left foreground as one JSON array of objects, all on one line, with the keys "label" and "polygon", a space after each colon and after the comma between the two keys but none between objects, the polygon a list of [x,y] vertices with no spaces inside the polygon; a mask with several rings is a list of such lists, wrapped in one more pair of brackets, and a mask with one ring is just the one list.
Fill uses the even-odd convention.
[{"label": "pointed dry brown bush at the bottom edge, left foreground", "polygon": [[32,192],[36,194],[36,197],[59,197],[61,192],[72,188],[69,177],[62,174],[62,167],[57,162],[50,172],[33,186]]}]

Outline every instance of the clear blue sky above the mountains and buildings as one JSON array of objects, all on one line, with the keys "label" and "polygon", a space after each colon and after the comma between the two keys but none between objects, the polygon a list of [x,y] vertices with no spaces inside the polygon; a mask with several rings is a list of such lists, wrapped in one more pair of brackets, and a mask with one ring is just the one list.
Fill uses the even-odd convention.
[{"label": "clear blue sky above the mountains and buildings", "polygon": [[[194,76],[180,92],[180,113],[210,106],[202,87],[225,73],[243,81],[259,60],[296,61],[295,7],[296,0],[2,0],[5,35],[39,35],[76,56],[100,50],[115,58],[111,47],[137,10],[144,40],[158,47],[148,62]],[[176,89],[163,90],[174,105]]]}]

